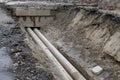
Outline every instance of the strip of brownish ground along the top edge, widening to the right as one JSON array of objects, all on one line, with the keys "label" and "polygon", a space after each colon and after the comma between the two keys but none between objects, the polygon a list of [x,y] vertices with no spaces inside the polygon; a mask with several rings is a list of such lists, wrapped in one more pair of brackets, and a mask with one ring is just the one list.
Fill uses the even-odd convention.
[{"label": "strip of brownish ground along the top edge, widening to the right", "polygon": [[[25,1],[25,0],[20,0]],[[27,1],[27,0],[26,0]],[[92,4],[101,9],[120,9],[119,0],[29,0],[29,1],[53,1],[53,2],[73,2],[77,4]]]}]

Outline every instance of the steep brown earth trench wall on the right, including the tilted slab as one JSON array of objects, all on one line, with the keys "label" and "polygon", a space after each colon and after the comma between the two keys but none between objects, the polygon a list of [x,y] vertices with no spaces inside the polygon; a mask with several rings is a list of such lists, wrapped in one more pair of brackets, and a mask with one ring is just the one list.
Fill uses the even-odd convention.
[{"label": "steep brown earth trench wall on the right, including the tilted slab", "polygon": [[56,41],[64,38],[73,45],[80,45],[81,40],[85,41],[88,48],[108,53],[120,61],[120,24],[118,21],[119,18],[112,15],[76,9],[60,12],[54,24],[42,28],[42,31]]}]

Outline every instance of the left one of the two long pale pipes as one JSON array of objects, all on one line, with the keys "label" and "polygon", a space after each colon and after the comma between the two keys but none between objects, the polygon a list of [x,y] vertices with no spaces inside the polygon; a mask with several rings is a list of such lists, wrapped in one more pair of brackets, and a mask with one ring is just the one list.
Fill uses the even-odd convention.
[{"label": "left one of the two long pale pipes", "polygon": [[63,80],[73,80],[71,76],[66,72],[58,60],[53,56],[45,44],[39,39],[39,37],[32,31],[32,29],[27,28],[29,34],[33,37],[34,41],[43,49],[47,57],[58,67],[60,74],[62,75]]}]

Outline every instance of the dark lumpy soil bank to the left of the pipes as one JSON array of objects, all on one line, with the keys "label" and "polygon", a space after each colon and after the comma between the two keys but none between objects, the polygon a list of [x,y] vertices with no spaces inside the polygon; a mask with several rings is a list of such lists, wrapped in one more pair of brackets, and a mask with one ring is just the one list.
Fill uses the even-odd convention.
[{"label": "dark lumpy soil bank to the left of the pipes", "polygon": [[0,17],[0,48],[7,47],[15,80],[53,80],[52,74],[33,57],[18,24],[1,9]]}]

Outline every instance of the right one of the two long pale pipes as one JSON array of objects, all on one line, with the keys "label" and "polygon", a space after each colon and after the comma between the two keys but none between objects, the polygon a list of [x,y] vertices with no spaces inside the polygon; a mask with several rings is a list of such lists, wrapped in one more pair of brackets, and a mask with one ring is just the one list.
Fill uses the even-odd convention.
[{"label": "right one of the two long pale pipes", "polygon": [[34,31],[75,80],[86,80],[83,75],[81,75],[79,71],[44,37],[40,30],[35,28]]}]

